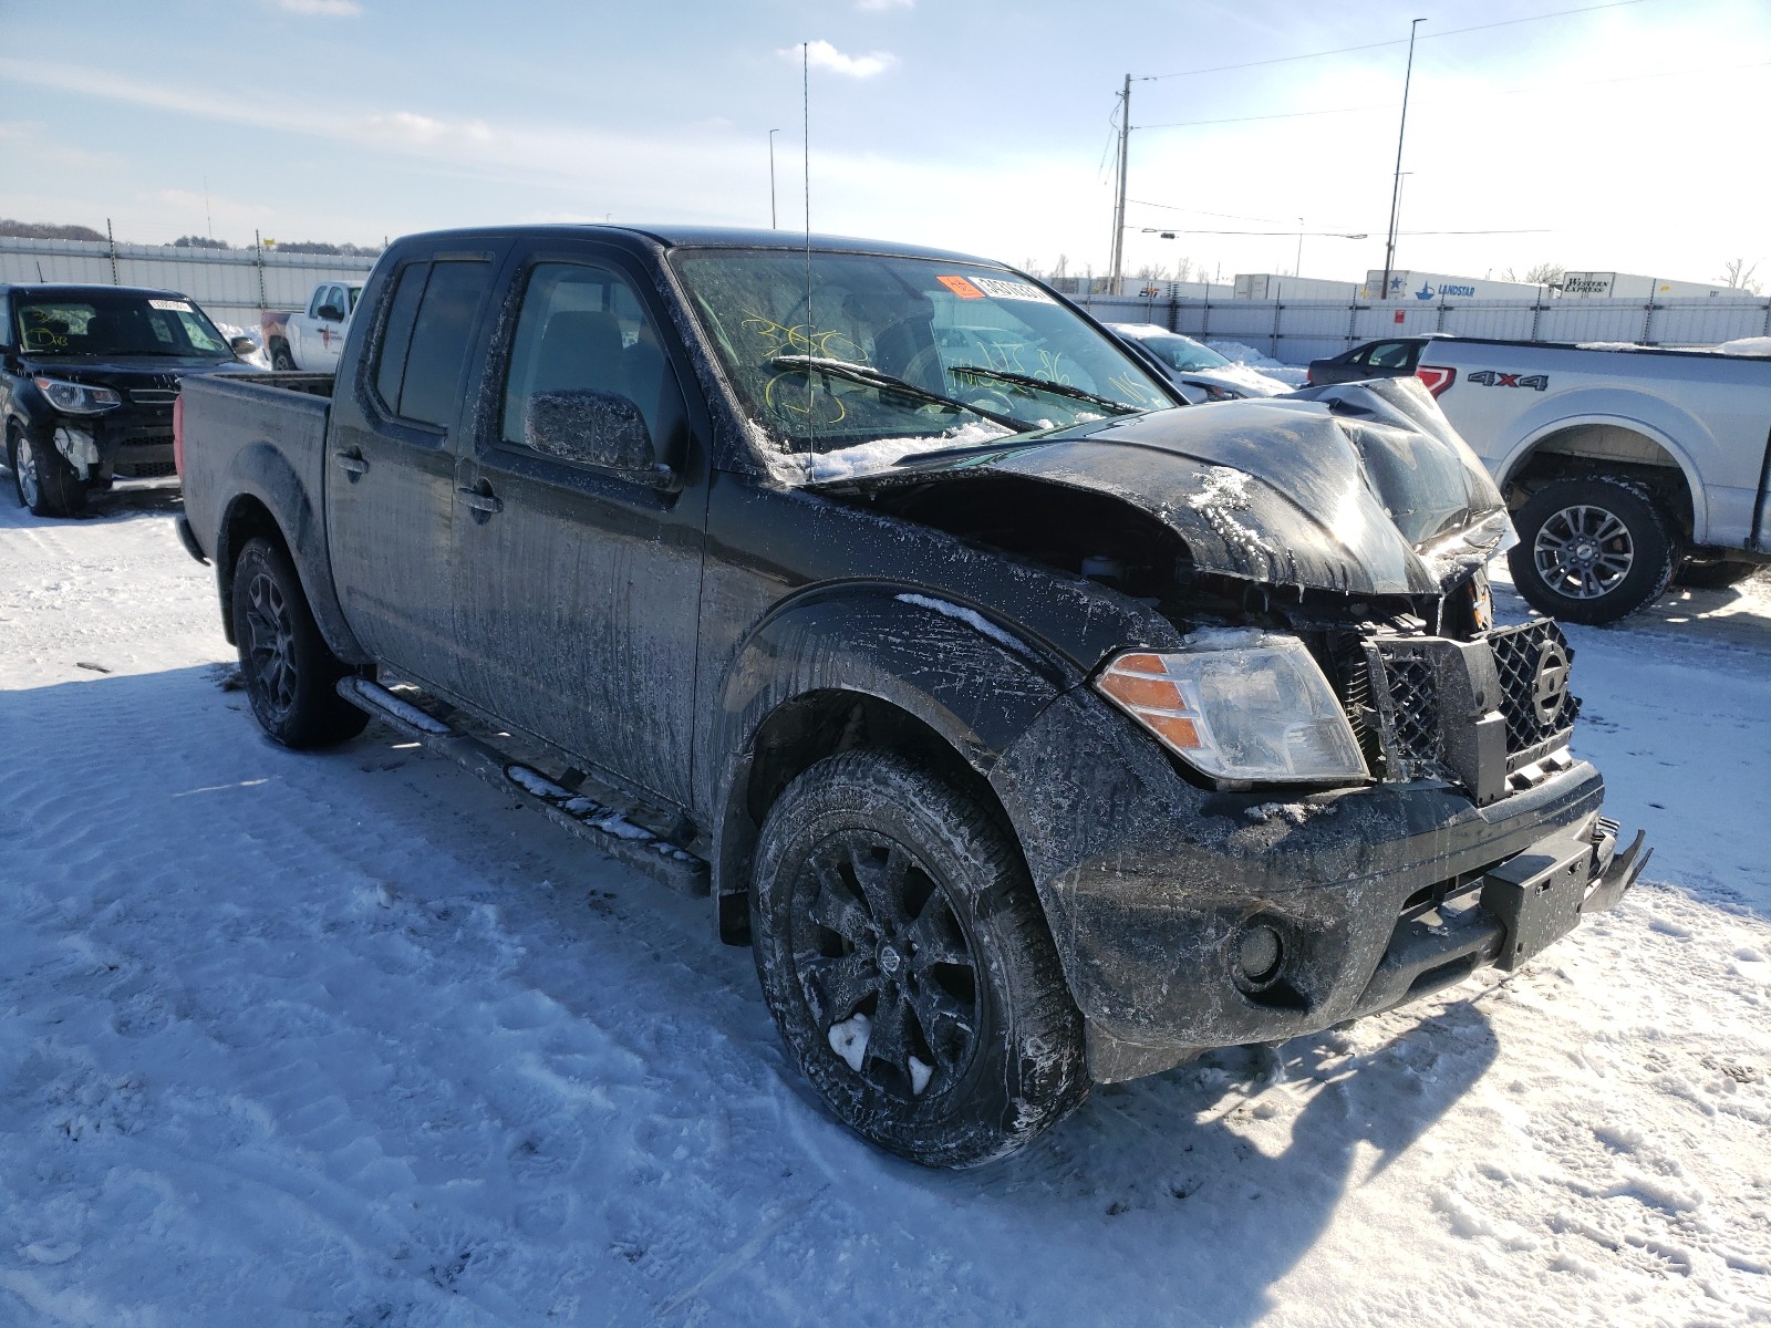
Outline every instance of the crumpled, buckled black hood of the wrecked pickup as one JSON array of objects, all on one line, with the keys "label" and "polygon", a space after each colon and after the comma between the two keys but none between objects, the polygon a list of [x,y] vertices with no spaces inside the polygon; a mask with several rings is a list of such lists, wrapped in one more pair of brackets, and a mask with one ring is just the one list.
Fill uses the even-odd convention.
[{"label": "crumpled, buckled black hood of the wrecked pickup", "polygon": [[808,485],[864,494],[1020,476],[1109,494],[1208,572],[1350,595],[1431,595],[1512,542],[1500,490],[1415,379],[1309,388],[903,457]]}]

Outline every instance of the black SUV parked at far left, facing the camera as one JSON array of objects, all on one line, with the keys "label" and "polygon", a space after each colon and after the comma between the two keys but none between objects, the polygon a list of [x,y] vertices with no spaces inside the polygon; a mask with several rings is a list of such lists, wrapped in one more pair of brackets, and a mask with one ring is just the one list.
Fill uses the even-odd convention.
[{"label": "black SUV parked at far left, facing the camera", "polygon": [[0,287],[0,411],[18,501],[76,513],[119,475],[172,475],[172,404],[189,374],[244,370],[189,296],[113,285]]}]

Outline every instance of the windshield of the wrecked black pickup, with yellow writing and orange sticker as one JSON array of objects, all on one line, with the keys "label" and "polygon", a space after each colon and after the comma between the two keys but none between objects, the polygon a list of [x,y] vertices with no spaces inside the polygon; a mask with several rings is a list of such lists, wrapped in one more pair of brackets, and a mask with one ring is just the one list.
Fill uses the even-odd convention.
[{"label": "windshield of the wrecked black pickup, with yellow writing and orange sticker", "polygon": [[673,264],[747,414],[783,452],[910,452],[1174,404],[1001,267],[804,250],[684,250]]}]

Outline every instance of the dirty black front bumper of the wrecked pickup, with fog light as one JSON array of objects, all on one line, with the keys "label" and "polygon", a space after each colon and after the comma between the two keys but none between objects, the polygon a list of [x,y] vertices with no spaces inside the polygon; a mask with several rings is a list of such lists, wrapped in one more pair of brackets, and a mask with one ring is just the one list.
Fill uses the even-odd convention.
[{"label": "dirty black front bumper of the wrecked pickup, with fog light", "polygon": [[1102,1082],[1516,967],[1647,861],[1585,761],[1481,807],[1433,781],[1211,793],[1102,708],[1059,698],[992,772]]}]

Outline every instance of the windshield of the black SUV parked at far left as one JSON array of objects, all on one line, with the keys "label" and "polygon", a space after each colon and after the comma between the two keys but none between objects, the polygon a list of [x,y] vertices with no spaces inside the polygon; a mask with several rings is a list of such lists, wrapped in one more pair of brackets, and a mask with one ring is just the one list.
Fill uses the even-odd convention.
[{"label": "windshield of the black SUV parked at far left", "polygon": [[18,344],[53,356],[232,358],[227,338],[182,296],[94,290],[14,296]]}]

